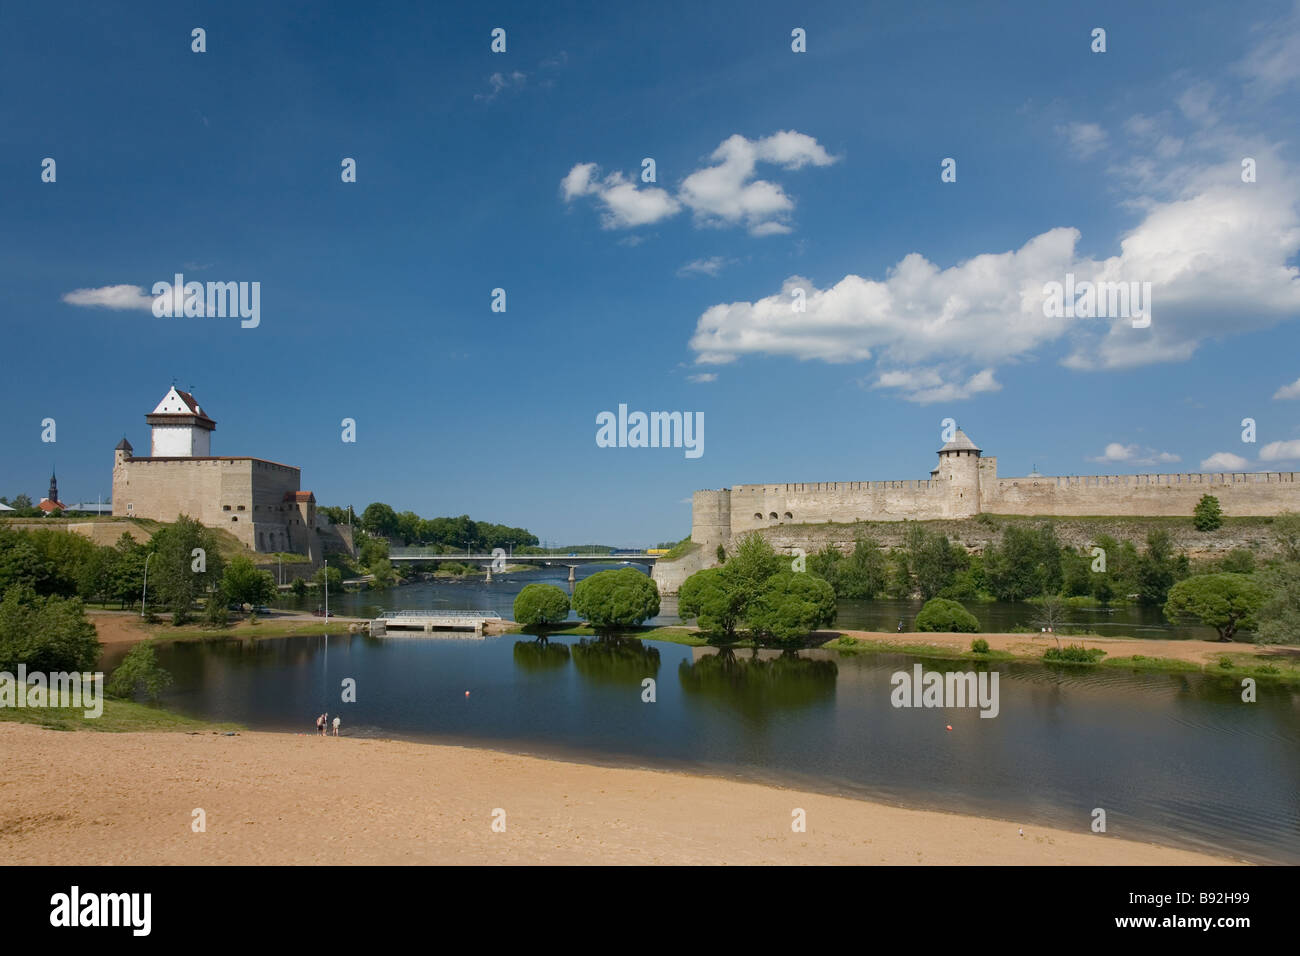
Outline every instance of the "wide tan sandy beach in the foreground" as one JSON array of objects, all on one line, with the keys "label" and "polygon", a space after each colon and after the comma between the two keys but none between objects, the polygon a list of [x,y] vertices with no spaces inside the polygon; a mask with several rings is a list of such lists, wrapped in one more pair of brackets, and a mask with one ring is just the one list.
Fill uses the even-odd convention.
[{"label": "wide tan sandy beach in the foreground", "polygon": [[395,740],[0,723],[0,852],[20,865],[1232,862],[1087,819],[1020,836],[1015,821]]}]

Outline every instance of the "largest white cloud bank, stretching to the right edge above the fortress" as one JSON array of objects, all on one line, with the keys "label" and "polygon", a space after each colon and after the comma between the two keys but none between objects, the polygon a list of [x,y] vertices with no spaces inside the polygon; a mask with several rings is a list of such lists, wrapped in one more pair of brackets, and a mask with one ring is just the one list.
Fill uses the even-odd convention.
[{"label": "largest white cloud bank, stretching to the right edge above the fortress", "polygon": [[[1113,172],[1117,202],[1136,222],[1117,237],[1113,255],[1083,255],[1080,232],[1063,225],[948,267],[913,251],[878,276],[850,273],[828,285],[790,276],[759,298],[706,308],[689,341],[694,362],[872,360],[878,386],[935,401],[931,389],[976,394],[980,382],[970,382],[979,372],[994,381],[998,367],[1048,349],[1071,369],[1135,368],[1183,362],[1209,339],[1295,320],[1300,170],[1280,147],[1227,129],[1214,101],[1195,87],[1180,109],[1196,122],[1170,111],[1126,124],[1126,148],[1135,152],[1115,157]],[[1196,126],[1186,143],[1171,134],[1175,121]],[[1244,155],[1270,174],[1243,183]],[[1044,286],[1067,273],[1076,285],[1149,282],[1149,326],[1134,328],[1131,315],[1044,316]],[[941,385],[919,384],[936,367],[945,369]]]}]

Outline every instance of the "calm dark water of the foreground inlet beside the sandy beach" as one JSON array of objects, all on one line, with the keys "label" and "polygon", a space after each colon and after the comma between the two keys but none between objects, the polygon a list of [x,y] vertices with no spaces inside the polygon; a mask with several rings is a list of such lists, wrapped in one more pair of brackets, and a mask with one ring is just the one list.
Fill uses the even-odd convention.
[{"label": "calm dark water of the foreground inlet beside the sandy beach", "polygon": [[[1300,693],[1264,687],[1247,705],[1230,679],[1001,663],[1001,713],[982,719],[894,709],[905,656],[335,635],[164,645],[159,658],[176,678],[166,706],[257,730],[312,732],[328,710],[352,736],[702,770],[1071,830],[1101,806],[1110,835],[1300,862]],[[641,700],[646,676],[654,704]],[[355,704],[339,704],[344,678]]]}]

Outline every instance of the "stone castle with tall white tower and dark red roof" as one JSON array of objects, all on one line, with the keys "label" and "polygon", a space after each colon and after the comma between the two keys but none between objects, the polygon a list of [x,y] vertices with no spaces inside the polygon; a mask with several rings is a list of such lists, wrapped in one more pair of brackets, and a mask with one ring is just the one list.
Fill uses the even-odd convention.
[{"label": "stone castle with tall white tower and dark red roof", "polygon": [[298,468],[213,455],[217,423],[174,385],[144,420],[152,429],[150,457],[136,458],[125,437],[113,451],[114,515],[174,522],[183,514],[229,531],[255,551],[294,551],[321,561],[322,535],[338,529],[328,522],[317,525],[316,496],[300,489]]}]

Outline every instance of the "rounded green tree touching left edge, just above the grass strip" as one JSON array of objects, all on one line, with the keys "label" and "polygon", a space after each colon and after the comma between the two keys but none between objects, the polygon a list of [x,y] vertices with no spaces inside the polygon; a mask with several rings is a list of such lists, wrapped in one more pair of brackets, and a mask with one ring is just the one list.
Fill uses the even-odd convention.
[{"label": "rounded green tree touching left edge, just above the grass strip", "polygon": [[81,598],[43,597],[16,585],[0,601],[0,671],[87,671],[99,661],[95,626]]}]

